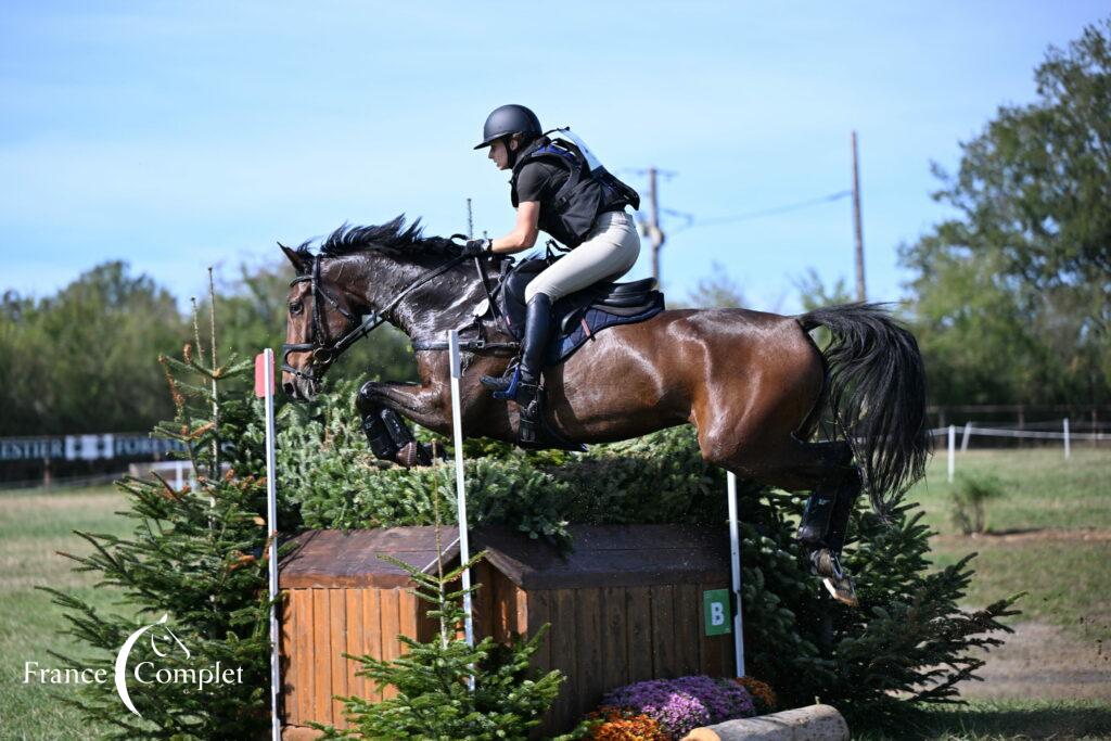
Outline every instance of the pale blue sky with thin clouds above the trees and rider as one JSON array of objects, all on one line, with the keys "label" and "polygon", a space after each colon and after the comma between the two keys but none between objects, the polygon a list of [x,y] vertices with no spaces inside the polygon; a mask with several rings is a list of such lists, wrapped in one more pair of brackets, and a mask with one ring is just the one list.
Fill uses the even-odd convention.
[{"label": "pale blue sky with thin clouds above the trees and rider", "polygon": [[[607,167],[690,213],[662,258],[682,297],[720,266],[791,312],[813,268],[853,280],[848,199],[700,221],[850,187],[859,132],[870,298],[944,216],[930,162],[1105,2],[18,2],[0,6],[0,289],[48,294],[124,259],[182,300],[206,267],[277,256],[343,221],[429,233],[512,226],[506,174],[471,147],[490,109],[572,124]],[[648,274],[645,250],[631,277]]]}]

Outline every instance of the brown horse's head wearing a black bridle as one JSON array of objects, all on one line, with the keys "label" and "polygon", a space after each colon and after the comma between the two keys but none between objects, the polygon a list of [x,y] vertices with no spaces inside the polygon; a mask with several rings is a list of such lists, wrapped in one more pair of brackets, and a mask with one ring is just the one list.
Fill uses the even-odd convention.
[{"label": "brown horse's head wearing a black bridle", "polygon": [[366,324],[351,294],[329,281],[323,258],[279,247],[297,271],[287,298],[281,385],[291,399],[311,401],[328,368]]}]

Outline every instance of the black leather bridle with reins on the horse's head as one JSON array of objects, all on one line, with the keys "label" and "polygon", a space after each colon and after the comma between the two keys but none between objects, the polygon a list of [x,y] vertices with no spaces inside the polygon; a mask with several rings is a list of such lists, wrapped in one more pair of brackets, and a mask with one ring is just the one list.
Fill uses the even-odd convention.
[{"label": "black leather bridle with reins on the horse's head", "polygon": [[[311,334],[309,336],[308,342],[287,342],[281,346],[281,369],[298,378],[302,378],[307,381],[319,381],[323,375],[324,371],[336,362],[336,359],[343,353],[344,350],[350,348],[357,341],[370,334],[372,331],[378,329],[381,324],[384,324],[387,317],[393,309],[401,303],[401,300],[409,296],[411,292],[429,282],[433,278],[446,273],[451,270],[460,262],[466,260],[463,256],[457,256],[442,266],[434,268],[416,281],[410,283],[407,288],[402,289],[393,299],[386,304],[381,310],[376,310],[373,313],[368,314],[361,321],[351,314],[350,311],[340,306],[331,293],[329,293],[320,281],[320,254],[312,256],[312,270],[306,276],[298,276],[289,282],[290,288],[297,286],[298,283],[303,283],[309,281],[312,291],[312,324]],[[354,329],[348,331],[343,337],[331,341],[328,332],[328,323],[321,320],[324,314],[324,303],[331,304],[333,309],[339,311],[344,319],[348,320],[348,324],[354,324]],[[308,371],[303,371],[299,368],[293,368],[289,364],[289,353],[291,352],[304,352],[309,351],[312,353],[312,358],[309,361]],[[320,371],[318,375],[316,371]]]}]

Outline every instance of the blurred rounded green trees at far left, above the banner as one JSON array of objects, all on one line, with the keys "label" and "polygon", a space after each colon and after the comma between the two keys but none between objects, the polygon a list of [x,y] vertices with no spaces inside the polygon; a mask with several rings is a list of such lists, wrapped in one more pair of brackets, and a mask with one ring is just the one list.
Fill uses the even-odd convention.
[{"label": "blurred rounded green trees at far left, above the banner", "polygon": [[0,311],[0,435],[132,432],[171,413],[157,358],[180,348],[186,324],[126,262],[39,301],[8,293]]}]

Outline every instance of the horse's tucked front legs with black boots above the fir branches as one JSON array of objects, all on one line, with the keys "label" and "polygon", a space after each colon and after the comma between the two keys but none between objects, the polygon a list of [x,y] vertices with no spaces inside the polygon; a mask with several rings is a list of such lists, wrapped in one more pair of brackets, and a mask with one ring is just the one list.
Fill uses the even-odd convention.
[{"label": "horse's tucked front legs with black boots above the fir branches", "polygon": [[417,442],[398,412],[424,427],[442,429],[443,389],[440,384],[368,381],[359,389],[356,405],[362,415],[362,431],[377,458],[407,468],[432,462],[432,451]]}]

